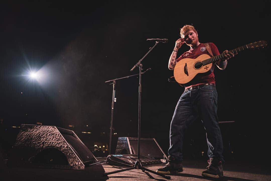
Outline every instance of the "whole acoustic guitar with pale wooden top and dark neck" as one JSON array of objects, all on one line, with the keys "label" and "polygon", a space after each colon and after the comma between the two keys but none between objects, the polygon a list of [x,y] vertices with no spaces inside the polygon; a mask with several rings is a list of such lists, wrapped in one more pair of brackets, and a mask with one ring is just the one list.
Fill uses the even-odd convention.
[{"label": "whole acoustic guitar with pale wooden top and dark neck", "polygon": [[[247,45],[243,45],[241,47],[230,50],[231,53],[241,52],[246,49],[261,49],[267,46],[267,41],[261,40],[258,42],[249,43]],[[173,74],[175,80],[182,86],[186,86],[188,82],[190,82],[196,75],[198,74],[209,74],[213,71],[214,66],[212,66],[214,62],[220,60],[225,57],[225,53],[221,53],[220,55],[210,57],[207,54],[203,54],[198,56],[195,59],[192,58],[184,58],[176,63]]]}]

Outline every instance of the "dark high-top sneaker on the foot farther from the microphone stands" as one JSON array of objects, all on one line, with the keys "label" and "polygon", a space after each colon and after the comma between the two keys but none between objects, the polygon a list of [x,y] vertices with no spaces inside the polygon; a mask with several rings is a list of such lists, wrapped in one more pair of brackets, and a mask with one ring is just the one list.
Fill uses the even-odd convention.
[{"label": "dark high-top sneaker on the foot farther from the microphone stands", "polygon": [[208,160],[209,165],[206,170],[202,172],[204,177],[220,178],[223,177],[222,161],[215,161],[214,158]]}]

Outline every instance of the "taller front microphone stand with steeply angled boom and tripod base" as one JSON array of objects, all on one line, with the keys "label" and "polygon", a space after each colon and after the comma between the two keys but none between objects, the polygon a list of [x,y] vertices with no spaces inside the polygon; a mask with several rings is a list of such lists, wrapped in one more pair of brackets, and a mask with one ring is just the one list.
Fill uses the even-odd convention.
[{"label": "taller front microphone stand with steeply angled boom and tripod base", "polygon": [[150,169],[146,169],[145,167],[142,166],[141,161],[140,161],[140,119],[141,119],[141,93],[142,93],[142,87],[141,87],[141,71],[142,71],[142,63],[141,61],[150,53],[150,51],[158,44],[159,42],[156,41],[155,45],[153,47],[150,48],[150,50],[146,53],[146,55],[143,56],[142,59],[140,59],[137,64],[135,64],[133,66],[133,68],[130,71],[133,71],[133,69],[135,67],[139,68],[139,90],[138,90],[138,142],[137,142],[137,161],[135,162],[134,167],[130,167],[130,168],[126,168],[126,169],[122,169],[122,170],[117,170],[117,171],[113,171],[113,172],[108,172],[108,173],[104,173],[104,175],[109,175],[109,174],[113,174],[113,173],[118,173],[118,172],[123,172],[123,171],[127,171],[127,170],[132,170],[132,169],[141,169],[142,172],[145,172],[145,170],[147,170],[148,172],[157,174],[159,176],[162,176],[166,179],[170,179],[170,176],[167,175],[163,175],[157,172],[154,172],[153,170]]}]

